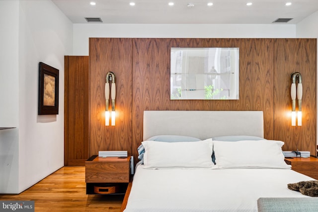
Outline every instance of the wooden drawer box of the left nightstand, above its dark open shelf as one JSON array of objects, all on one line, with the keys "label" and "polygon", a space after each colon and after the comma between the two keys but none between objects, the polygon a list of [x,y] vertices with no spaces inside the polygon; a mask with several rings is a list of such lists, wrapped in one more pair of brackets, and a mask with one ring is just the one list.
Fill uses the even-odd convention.
[{"label": "wooden drawer box of the left nightstand, above its dark open shelf", "polygon": [[95,157],[85,161],[86,183],[128,183],[130,178],[130,156]]}]

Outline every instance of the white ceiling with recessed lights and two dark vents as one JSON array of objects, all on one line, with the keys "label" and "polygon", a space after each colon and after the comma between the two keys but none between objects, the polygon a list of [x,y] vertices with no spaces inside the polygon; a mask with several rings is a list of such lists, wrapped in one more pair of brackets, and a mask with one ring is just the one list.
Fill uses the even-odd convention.
[{"label": "white ceiling with recessed lights and two dark vents", "polygon": [[[287,24],[297,24],[318,11],[318,0],[52,1],[73,23],[87,23],[85,17],[100,17],[102,23],[116,24],[272,24],[277,18],[293,18]],[[90,5],[90,1],[96,5]],[[131,6],[130,2],[136,4]],[[208,2],[213,5],[208,6]],[[252,5],[247,6],[247,2]],[[286,6],[286,2],[292,4]],[[188,7],[188,3],[194,3],[194,7]]]}]

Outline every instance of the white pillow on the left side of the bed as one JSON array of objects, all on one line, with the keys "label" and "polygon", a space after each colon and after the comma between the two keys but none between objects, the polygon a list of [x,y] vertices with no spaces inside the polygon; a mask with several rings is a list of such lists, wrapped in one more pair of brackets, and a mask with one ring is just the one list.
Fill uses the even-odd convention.
[{"label": "white pillow on the left side of the bed", "polygon": [[213,141],[143,141],[144,168],[212,168]]}]

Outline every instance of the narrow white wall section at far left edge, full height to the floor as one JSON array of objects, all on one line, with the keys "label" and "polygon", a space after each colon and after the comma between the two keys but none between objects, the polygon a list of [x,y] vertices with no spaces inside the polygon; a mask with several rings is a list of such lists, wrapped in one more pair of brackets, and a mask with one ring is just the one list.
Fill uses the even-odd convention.
[{"label": "narrow white wall section at far left edge, full height to the floor", "polygon": [[[0,127],[18,127],[19,1],[0,0],[0,26]],[[18,159],[18,130],[0,130],[0,193],[18,190]]]}]

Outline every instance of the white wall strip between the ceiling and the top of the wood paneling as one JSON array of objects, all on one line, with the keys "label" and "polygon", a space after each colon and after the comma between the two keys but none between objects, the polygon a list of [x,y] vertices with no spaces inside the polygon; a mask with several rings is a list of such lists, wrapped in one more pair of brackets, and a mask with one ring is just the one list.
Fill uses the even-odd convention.
[{"label": "white wall strip between the ceiling and the top of the wood paneling", "polygon": [[88,38],[295,38],[291,24],[73,24],[73,53],[88,55]]}]

